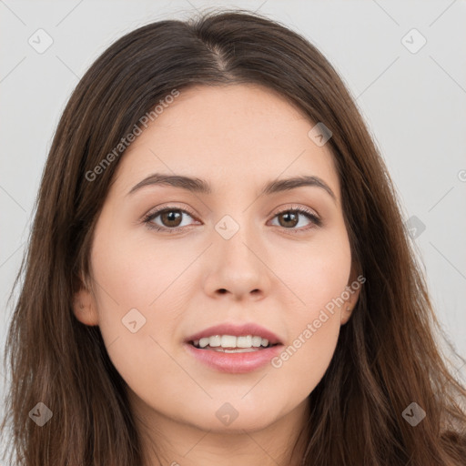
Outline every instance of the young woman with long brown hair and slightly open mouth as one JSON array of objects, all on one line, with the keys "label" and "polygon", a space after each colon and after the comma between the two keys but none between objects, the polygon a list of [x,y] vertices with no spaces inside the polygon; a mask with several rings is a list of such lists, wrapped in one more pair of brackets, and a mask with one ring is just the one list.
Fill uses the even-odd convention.
[{"label": "young woman with long brown hair and slightly open mouth", "polygon": [[7,341],[20,464],[464,464],[413,257],[303,37],[248,12],[125,35],[42,179]]}]

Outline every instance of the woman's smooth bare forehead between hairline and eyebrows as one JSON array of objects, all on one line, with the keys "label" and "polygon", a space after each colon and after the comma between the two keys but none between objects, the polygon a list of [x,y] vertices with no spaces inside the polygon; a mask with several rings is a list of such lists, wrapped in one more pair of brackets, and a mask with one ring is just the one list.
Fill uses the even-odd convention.
[{"label": "woman's smooth bare forehead between hairline and eyebrows", "polygon": [[308,136],[314,126],[266,87],[190,87],[127,148],[117,183],[130,188],[151,172],[208,179],[214,188],[310,175],[324,178],[339,196],[329,145],[319,147]]}]

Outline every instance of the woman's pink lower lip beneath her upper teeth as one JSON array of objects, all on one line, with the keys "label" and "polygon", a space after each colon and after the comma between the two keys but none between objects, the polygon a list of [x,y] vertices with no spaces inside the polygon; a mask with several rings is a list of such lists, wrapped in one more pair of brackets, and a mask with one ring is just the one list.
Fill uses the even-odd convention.
[{"label": "woman's pink lower lip beneath her upper teeth", "polygon": [[252,372],[266,366],[272,358],[279,355],[283,347],[279,344],[245,353],[223,353],[213,349],[198,349],[190,343],[185,346],[190,354],[210,368],[230,374]]}]

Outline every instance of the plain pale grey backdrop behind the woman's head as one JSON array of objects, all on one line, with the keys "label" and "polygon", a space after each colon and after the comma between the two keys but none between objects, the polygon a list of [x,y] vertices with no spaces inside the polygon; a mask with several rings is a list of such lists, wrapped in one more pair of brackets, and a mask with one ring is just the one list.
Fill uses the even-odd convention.
[{"label": "plain pale grey backdrop behind the woman's head", "polygon": [[216,6],[278,19],[339,71],[399,191],[445,336],[466,357],[466,2],[459,0],[0,1],[0,356],[47,151],[79,77],[138,26]]}]

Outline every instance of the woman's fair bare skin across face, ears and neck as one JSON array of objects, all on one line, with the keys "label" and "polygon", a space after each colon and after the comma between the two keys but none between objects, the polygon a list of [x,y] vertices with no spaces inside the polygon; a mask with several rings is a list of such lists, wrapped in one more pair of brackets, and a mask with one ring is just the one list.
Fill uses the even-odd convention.
[{"label": "woman's fair bare skin across face, ears and neck", "polygon": [[[96,225],[93,286],[76,293],[75,314],[100,327],[127,382],[147,464],[158,464],[152,443],[163,464],[298,464],[290,449],[308,414],[307,397],[329,367],[359,291],[279,369],[220,373],[189,355],[183,341],[215,324],[253,321],[287,347],[356,279],[339,177],[329,144],[318,147],[311,127],[266,88],[191,87],[120,161]],[[127,196],[155,172],[206,179],[212,193],[158,185]],[[336,201],[320,187],[258,196],[268,181],[304,174],[321,178]],[[167,204],[196,216],[183,214],[176,233],[147,228],[145,214]],[[293,226],[277,215],[297,207],[309,208],[322,225],[299,214]],[[215,229],[225,215],[239,225],[228,240]],[[177,225],[163,221],[152,223]],[[147,319],[136,333],[122,325],[134,308]],[[238,411],[228,426],[216,416],[227,401]]]}]

